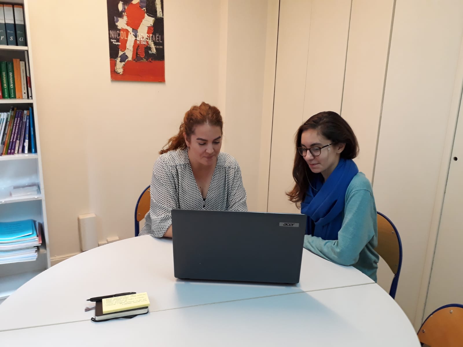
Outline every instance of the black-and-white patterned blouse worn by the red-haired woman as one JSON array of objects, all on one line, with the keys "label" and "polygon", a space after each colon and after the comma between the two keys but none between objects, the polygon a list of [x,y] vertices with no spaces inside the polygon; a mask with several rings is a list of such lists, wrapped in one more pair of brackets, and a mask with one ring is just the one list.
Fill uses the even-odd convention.
[{"label": "black-and-white patterned blouse worn by the red-haired woman", "polygon": [[220,152],[211,184],[203,199],[194,179],[187,149],[161,155],[153,167],[150,211],[140,235],[163,237],[172,224],[170,210],[247,211],[246,191],[238,161]]}]

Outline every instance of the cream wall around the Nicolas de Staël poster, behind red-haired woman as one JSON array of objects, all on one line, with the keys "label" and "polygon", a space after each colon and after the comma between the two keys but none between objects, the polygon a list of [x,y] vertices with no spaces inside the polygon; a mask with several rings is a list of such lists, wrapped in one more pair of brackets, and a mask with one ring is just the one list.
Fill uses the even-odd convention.
[{"label": "cream wall around the Nicolas de Sta\u00ebl poster, behind red-haired woman", "polygon": [[[250,140],[258,132],[243,132],[240,122],[256,127],[263,116],[268,4],[242,1],[243,12],[225,0],[164,6],[166,83],[112,82],[105,1],[82,0],[79,11],[71,2],[29,2],[52,256],[80,251],[77,216],[83,213],[98,216],[100,240],[133,235],[135,202],[150,182],[157,152],[189,107],[203,100],[224,111],[225,150],[243,161],[250,209],[257,209],[253,173],[260,153],[249,144],[258,147],[260,137]],[[230,42],[240,46],[224,53]],[[240,62],[243,70],[235,71]],[[245,85],[254,94],[238,109],[229,100],[236,103]]]}]

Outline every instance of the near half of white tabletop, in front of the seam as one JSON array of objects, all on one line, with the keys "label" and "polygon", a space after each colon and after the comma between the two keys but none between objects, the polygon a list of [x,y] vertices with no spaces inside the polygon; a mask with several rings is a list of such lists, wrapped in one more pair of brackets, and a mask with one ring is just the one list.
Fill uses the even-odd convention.
[{"label": "near half of white tabletop, in front of the seam", "polygon": [[5,346],[419,347],[412,324],[376,284],[0,332]]}]

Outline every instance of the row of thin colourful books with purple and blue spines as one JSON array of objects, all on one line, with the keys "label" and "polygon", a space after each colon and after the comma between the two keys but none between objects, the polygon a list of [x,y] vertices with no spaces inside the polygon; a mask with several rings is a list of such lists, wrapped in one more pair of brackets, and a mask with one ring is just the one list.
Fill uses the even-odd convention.
[{"label": "row of thin colourful books with purple and blue spines", "polygon": [[0,155],[37,153],[32,108],[0,113]]}]

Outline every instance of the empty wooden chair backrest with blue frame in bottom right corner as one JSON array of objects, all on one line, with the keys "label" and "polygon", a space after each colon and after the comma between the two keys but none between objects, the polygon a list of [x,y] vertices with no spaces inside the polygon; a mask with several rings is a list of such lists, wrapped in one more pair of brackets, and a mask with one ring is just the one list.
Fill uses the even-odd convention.
[{"label": "empty wooden chair backrest with blue frame in bottom right corner", "polygon": [[419,342],[431,347],[463,344],[463,305],[450,304],[432,312],[419,328]]}]

